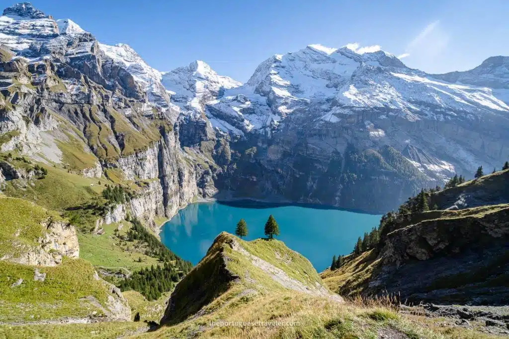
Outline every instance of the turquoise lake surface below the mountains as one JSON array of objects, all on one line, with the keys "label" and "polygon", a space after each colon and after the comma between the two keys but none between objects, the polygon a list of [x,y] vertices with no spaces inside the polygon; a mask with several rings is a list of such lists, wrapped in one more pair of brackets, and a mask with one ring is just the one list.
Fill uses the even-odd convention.
[{"label": "turquoise lake surface below the mountains", "polygon": [[265,222],[270,214],[279,225],[280,235],[276,238],[308,258],[318,271],[330,265],[334,254],[352,252],[357,238],[378,226],[381,217],[323,207],[274,206],[249,201],[233,205],[204,202],[180,210],[164,224],[160,236],[175,254],[196,264],[220,232],[235,233],[241,218],[247,223],[245,240],[265,237]]}]

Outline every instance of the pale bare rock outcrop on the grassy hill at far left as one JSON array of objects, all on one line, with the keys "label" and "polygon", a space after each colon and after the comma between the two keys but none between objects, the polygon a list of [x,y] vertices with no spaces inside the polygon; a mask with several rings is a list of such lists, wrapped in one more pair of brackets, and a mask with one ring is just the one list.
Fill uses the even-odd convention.
[{"label": "pale bare rock outcrop on the grassy hill at far left", "polygon": [[18,258],[7,260],[32,266],[55,266],[62,262],[64,256],[79,257],[79,245],[76,229],[64,222],[48,222],[48,230],[37,242],[39,245],[23,252]]}]

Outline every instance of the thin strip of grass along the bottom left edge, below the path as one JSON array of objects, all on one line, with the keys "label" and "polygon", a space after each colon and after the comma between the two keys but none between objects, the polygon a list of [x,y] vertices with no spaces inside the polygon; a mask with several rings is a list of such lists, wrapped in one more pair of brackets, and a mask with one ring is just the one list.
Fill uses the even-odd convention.
[{"label": "thin strip of grass along the bottom left edge, below the path", "polygon": [[0,337],[6,339],[104,339],[129,336],[137,330],[143,330],[146,327],[147,324],[139,322],[99,322],[67,325],[0,325]]}]

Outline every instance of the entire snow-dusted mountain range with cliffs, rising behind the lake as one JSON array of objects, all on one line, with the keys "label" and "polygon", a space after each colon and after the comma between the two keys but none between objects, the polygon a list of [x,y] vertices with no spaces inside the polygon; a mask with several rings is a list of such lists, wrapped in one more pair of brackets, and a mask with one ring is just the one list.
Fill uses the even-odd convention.
[{"label": "entire snow-dusted mountain range with cliffs, rising behind the lake", "polygon": [[158,178],[152,217],[195,196],[386,211],[509,157],[509,57],[437,75],[309,45],[241,84],[201,60],[160,72],[30,3],[4,10],[0,44],[0,150],[73,167],[58,144],[77,143],[93,161],[71,170]]}]

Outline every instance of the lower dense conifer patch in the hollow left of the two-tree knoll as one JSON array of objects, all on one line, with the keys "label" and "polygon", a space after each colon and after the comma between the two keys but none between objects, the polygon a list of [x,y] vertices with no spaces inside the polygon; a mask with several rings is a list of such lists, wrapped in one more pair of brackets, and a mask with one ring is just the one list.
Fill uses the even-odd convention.
[{"label": "lower dense conifer patch in the hollow left of the two-tree knoll", "polygon": [[164,292],[171,291],[176,282],[183,276],[182,271],[177,271],[169,263],[164,263],[161,267],[152,265],[150,269],[145,267],[142,270],[134,272],[128,279],[119,284],[120,290],[134,290],[143,294],[147,300],[159,299]]}]

